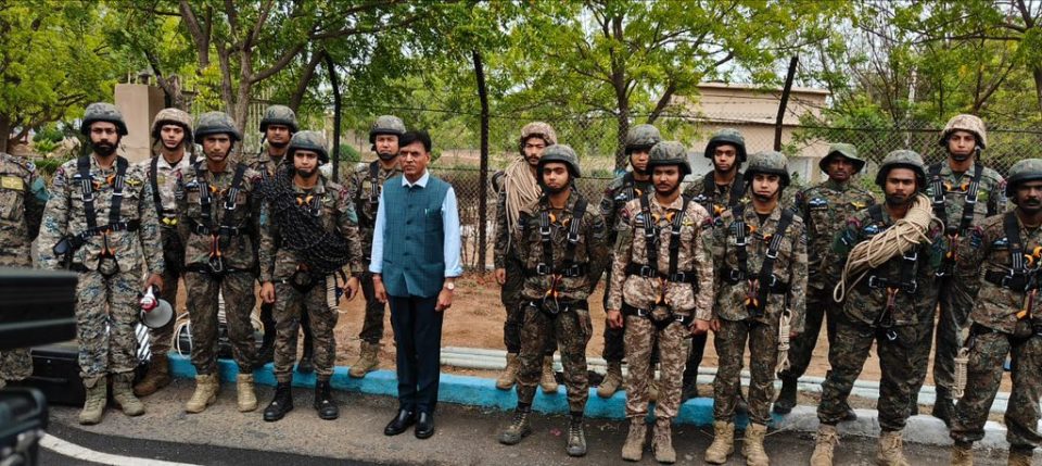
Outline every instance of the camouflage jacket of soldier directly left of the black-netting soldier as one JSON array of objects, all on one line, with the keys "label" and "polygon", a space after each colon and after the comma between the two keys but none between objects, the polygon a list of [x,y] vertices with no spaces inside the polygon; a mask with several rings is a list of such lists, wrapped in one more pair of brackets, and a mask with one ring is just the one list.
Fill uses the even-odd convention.
[{"label": "camouflage jacket of soldier directly left of the black-netting soldier", "polygon": [[[181,174],[181,182],[178,186],[177,196],[177,217],[178,232],[185,242],[185,265],[200,266],[209,263],[211,254],[216,253],[214,247],[219,248],[221,257],[225,261],[225,267],[237,270],[250,270],[256,264],[256,250],[254,242],[257,239],[259,224],[259,202],[255,189],[260,182],[260,174],[252,168],[246,168],[242,176],[242,186],[236,196],[234,210],[230,211],[230,222],[227,222],[232,228],[238,228],[238,235],[227,238],[226,244],[216,244],[211,235],[201,235],[196,231],[199,226],[206,226],[203,219],[204,205],[200,192],[201,182],[205,181],[209,186],[211,204],[209,212],[213,219],[213,226],[220,227],[226,223],[225,216],[229,211],[225,207],[226,197],[230,193],[232,178],[237,162],[229,161],[225,165],[224,172],[213,173],[207,168],[205,160],[199,161],[194,167],[185,171]],[[199,179],[199,172],[202,172],[203,180]]]}]

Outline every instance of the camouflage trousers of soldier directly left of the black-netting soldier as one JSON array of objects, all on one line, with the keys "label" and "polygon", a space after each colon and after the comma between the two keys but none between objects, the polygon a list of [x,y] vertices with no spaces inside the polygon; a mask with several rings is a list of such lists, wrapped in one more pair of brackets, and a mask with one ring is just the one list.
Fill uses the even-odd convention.
[{"label": "camouflage trousers of soldier directly left of the black-netting soldier", "polygon": [[250,314],[257,298],[254,294],[254,276],[250,272],[230,272],[223,278],[209,274],[189,272],[185,274],[188,290],[188,315],[192,320],[192,365],[201,375],[217,370],[217,295],[225,299],[225,319],[228,323],[228,339],[231,355],[243,374],[253,373],[256,358],[256,340]]}]

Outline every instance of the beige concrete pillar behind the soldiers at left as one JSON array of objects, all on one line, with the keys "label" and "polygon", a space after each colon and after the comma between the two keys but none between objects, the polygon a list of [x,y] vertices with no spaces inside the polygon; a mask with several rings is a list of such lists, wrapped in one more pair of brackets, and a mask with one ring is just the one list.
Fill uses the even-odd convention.
[{"label": "beige concrete pillar behind the soldiers at left", "polygon": [[149,130],[152,128],[152,118],[163,110],[163,90],[143,84],[117,84],[115,101],[116,108],[123,112],[123,118],[127,121],[129,133],[120,143],[122,153],[130,162],[152,156]]}]

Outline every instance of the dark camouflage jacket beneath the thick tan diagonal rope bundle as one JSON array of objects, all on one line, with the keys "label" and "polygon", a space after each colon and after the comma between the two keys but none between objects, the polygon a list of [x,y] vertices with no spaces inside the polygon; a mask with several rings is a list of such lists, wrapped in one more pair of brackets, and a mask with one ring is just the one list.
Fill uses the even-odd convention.
[{"label": "dark camouflage jacket beneath the thick tan diagonal rope bundle", "polygon": [[[872,218],[872,210],[877,210],[880,215],[879,221]],[[893,226],[894,222],[884,205],[855,213],[833,241],[833,257],[828,264],[828,274],[839,277],[854,247],[886,231]],[[933,314],[933,306],[937,304],[935,274],[941,264],[946,243],[939,222],[935,221],[930,224],[926,236],[930,240],[924,241],[914,251],[916,257],[914,261],[906,260],[903,255],[891,257],[865,274],[853,288],[850,286],[857,277],[848,277],[850,281],[843,302],[843,313],[848,318],[868,326],[878,326],[887,308],[888,285],[898,290],[893,301],[893,313],[890,316],[894,326],[913,325]],[[915,285],[907,284],[907,279],[914,280]],[[915,291],[910,293],[908,288]]]}]

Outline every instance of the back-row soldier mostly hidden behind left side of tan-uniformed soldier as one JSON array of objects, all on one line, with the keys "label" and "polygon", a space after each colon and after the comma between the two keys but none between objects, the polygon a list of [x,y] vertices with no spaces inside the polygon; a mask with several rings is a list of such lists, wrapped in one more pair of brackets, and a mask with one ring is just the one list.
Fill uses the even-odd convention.
[{"label": "back-row soldier mostly hidden behind left side of tan-uniformed soldier", "polygon": [[[614,247],[618,239],[618,229],[622,226],[619,221],[619,213],[627,202],[644,196],[645,192],[651,192],[655,189],[651,186],[651,174],[648,173],[648,154],[651,147],[659,143],[662,136],[659,129],[651,125],[637,125],[630,128],[626,135],[626,155],[630,156],[630,166],[632,171],[615,178],[605,189],[605,196],[600,199],[600,215],[608,225],[608,244]],[[609,252],[610,253],[610,252]],[[611,264],[611,257],[608,263]],[[611,269],[608,269],[606,284],[611,284]],[[608,295],[605,290],[605,308],[608,308]],[[605,351],[603,357],[608,362],[608,374],[597,388],[597,395],[600,398],[611,398],[620,388],[622,388],[622,358],[625,356],[622,340],[625,333],[624,328],[612,328],[605,326]]]}]

